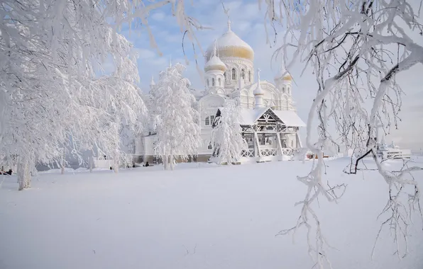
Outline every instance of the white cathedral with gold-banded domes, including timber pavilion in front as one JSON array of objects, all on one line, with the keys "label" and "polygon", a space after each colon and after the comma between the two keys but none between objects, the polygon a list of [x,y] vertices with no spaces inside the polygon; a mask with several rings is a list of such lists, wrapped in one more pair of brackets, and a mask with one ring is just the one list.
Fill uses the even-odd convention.
[{"label": "white cathedral with gold-banded domes, including timber pavilion in front", "polygon": [[[255,81],[254,51],[231,30],[229,20],[226,33],[209,46],[204,57],[206,86],[196,96],[204,143],[195,160],[209,161],[212,156],[214,151],[209,142],[212,123],[227,98],[241,105],[241,127],[248,143],[241,163],[290,159],[295,149],[301,147],[298,129],[305,126],[292,101],[290,74],[282,67],[273,84],[260,81],[258,71]],[[153,149],[155,139],[150,132],[136,142],[138,161],[157,161]]]}]

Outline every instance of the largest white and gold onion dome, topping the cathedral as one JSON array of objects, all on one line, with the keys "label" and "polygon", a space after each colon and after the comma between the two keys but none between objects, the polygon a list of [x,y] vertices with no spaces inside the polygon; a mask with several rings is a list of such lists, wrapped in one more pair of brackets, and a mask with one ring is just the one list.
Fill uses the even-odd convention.
[{"label": "largest white and gold onion dome, topping the cathedral", "polygon": [[[206,52],[207,59],[212,57],[214,45],[211,45]],[[231,21],[228,21],[228,31],[217,40],[217,55],[219,57],[236,57],[254,60],[254,51],[250,45],[231,30]]]}]

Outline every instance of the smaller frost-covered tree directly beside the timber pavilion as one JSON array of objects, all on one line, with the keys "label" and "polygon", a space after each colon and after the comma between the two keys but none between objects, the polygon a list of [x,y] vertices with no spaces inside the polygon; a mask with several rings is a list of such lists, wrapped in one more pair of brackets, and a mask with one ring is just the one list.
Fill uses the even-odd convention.
[{"label": "smaller frost-covered tree directly beside the timber pavilion", "polygon": [[236,164],[243,150],[248,148],[242,137],[241,107],[234,100],[226,100],[220,116],[214,120],[212,145],[217,164]]}]

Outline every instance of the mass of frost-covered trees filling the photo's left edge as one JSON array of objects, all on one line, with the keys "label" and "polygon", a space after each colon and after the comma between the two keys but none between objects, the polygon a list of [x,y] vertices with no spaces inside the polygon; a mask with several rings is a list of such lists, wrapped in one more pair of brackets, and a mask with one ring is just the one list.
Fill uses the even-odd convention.
[{"label": "mass of frost-covered trees filling the photo's left edge", "polygon": [[[144,109],[131,44],[117,31],[141,25],[157,48],[148,16],[164,6],[194,42],[201,26],[184,1],[1,2],[0,154],[2,164],[17,162],[19,189],[30,186],[28,167],[60,159],[62,148],[95,147],[119,160],[122,123],[132,125]],[[107,59],[115,71],[99,79]]]}]

